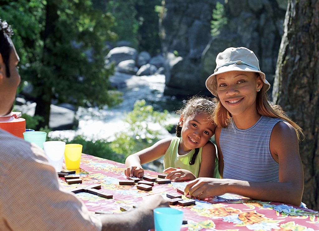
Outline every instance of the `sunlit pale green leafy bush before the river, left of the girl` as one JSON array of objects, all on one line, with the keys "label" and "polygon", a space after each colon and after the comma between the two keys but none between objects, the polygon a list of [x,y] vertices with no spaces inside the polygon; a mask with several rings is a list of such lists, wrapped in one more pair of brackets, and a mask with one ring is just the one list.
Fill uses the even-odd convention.
[{"label": "sunlit pale green leafy bush before the river, left of the girl", "polygon": [[126,114],[124,122],[128,128],[124,132],[115,134],[111,148],[126,157],[158,141],[159,130],[154,130],[148,124],[163,126],[168,111],[156,112],[151,105],[145,105],[145,100],[137,100],[133,111]]}]

